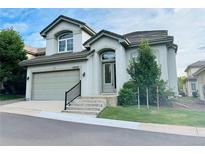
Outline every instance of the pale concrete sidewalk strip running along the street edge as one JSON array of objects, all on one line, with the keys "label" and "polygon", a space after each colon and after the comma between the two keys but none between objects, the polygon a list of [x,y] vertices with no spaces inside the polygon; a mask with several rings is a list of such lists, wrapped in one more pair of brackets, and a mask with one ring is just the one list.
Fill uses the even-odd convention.
[{"label": "pale concrete sidewalk strip running along the street edge", "polygon": [[187,136],[205,137],[205,128],[191,126],[176,126],[153,123],[129,122],[121,120],[101,119],[86,115],[68,114],[62,112],[43,111],[40,109],[14,107],[4,105],[0,107],[0,112],[22,114],[47,119],[62,120],[68,122],[84,123],[91,125],[100,125],[108,127],[127,128],[134,130],[160,132],[168,134],[178,134]]}]

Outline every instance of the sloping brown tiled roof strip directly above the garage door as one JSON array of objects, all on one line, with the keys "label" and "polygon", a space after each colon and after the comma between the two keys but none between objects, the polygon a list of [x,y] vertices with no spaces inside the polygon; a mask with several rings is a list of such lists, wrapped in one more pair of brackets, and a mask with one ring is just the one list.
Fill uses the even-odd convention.
[{"label": "sloping brown tiled roof strip directly above the garage door", "polygon": [[19,63],[20,66],[33,66],[50,63],[69,62],[77,60],[87,60],[87,56],[93,53],[94,50],[83,50],[81,52],[57,53],[50,56],[40,56],[30,60],[23,60]]}]

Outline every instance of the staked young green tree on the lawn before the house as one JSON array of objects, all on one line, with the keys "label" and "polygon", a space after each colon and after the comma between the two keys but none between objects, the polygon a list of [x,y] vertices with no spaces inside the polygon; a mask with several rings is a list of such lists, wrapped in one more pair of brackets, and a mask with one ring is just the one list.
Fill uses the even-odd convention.
[{"label": "staked young green tree on the lawn before the house", "polygon": [[142,41],[140,43],[138,57],[131,59],[127,72],[136,83],[136,86],[140,88],[141,102],[145,103],[147,100],[146,88],[149,90],[149,100],[151,103],[156,102],[157,86],[160,86],[159,83],[162,83],[160,80],[161,69],[148,42]]}]

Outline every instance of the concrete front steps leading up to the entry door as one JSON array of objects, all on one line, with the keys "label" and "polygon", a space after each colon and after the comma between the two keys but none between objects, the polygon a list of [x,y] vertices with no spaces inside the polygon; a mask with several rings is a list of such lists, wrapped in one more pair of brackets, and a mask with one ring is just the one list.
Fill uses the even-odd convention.
[{"label": "concrete front steps leading up to the entry door", "polygon": [[106,103],[106,99],[102,98],[81,97],[74,100],[63,112],[97,116],[106,107]]}]

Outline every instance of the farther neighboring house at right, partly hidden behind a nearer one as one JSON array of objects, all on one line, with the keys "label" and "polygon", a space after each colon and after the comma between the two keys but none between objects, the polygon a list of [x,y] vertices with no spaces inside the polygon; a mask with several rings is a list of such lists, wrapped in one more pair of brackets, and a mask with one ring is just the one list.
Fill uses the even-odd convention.
[{"label": "farther neighboring house at right, partly hidden behind a nearer one", "polygon": [[198,84],[197,84],[197,78],[193,74],[197,72],[200,68],[205,66],[205,61],[197,61],[191,65],[189,65],[186,69],[185,72],[187,73],[187,79],[184,83],[184,89],[185,89],[185,94],[187,96],[192,96],[193,92],[198,91]]}]

